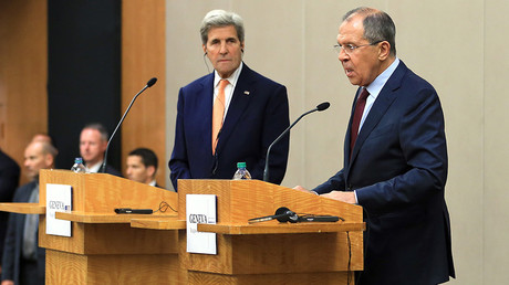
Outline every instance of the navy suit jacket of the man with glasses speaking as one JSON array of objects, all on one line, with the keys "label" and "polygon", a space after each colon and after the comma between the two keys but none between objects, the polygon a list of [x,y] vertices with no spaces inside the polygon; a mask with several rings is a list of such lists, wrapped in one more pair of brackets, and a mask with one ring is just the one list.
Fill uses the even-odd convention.
[{"label": "navy suit jacket of the man with glasses speaking", "polygon": [[368,225],[360,283],[438,284],[454,277],[444,199],[447,147],[436,91],[401,62],[370,110],[352,158],[351,124],[352,118],[344,168],[314,190],[356,190]]}]

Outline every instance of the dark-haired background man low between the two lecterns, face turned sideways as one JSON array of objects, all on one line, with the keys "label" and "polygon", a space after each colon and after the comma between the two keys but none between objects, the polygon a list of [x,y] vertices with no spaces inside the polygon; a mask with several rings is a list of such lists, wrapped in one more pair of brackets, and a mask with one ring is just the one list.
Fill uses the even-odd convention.
[{"label": "dark-haired background man low between the two lecterns, face turned sideways", "polygon": [[157,156],[148,148],[136,148],[127,155],[127,179],[159,187],[156,182]]}]

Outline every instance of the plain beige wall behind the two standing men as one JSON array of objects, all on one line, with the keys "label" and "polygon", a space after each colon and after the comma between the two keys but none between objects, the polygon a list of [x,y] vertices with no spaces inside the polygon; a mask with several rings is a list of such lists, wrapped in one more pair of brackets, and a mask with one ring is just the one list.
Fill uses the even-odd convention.
[{"label": "plain beige wall behind the two standing men", "polygon": [[[505,189],[509,75],[505,53],[509,3],[472,1],[166,0],[167,157],[174,141],[178,88],[211,71],[204,62],[199,24],[211,9],[245,19],[245,62],[284,84],[290,118],[324,101],[331,107],[300,122],[291,134],[283,186],[313,188],[340,170],[355,86],[332,45],[341,17],[370,6],[396,23],[397,55],[437,89],[446,117],[449,176],[446,199],[457,279],[450,284],[505,284],[509,229]],[[169,183],[168,183],[169,184]]]}]

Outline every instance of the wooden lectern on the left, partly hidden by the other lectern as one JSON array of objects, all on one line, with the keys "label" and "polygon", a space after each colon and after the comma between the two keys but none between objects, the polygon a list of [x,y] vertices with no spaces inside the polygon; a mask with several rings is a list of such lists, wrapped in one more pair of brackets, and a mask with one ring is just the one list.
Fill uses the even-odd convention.
[{"label": "wooden lectern on the left, partly hidden by the other lectern", "polygon": [[[48,183],[72,187],[71,238],[45,234]],[[46,249],[46,284],[177,284],[177,231],[131,228],[134,218],[176,219],[165,213],[116,214],[115,208],[177,208],[177,194],[106,173],[41,170],[39,204],[3,203],[4,211],[40,213],[39,245]]]}]

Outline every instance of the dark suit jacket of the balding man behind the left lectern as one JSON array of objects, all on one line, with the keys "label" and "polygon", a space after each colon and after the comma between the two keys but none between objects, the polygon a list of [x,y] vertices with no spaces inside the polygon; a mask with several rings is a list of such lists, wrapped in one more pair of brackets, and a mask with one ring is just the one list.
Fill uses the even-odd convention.
[{"label": "dark suit jacket of the balding man behind the left lectern", "polygon": [[[25,203],[30,199],[35,181],[27,183],[15,190],[13,202]],[[2,256],[2,279],[14,281],[20,284],[20,265],[22,262],[21,247],[23,244],[24,219],[25,214],[10,213],[9,226],[7,229],[6,244]],[[39,241],[38,241],[39,243]],[[38,284],[44,284],[45,271],[45,251],[42,247],[38,250],[38,272],[30,274],[29,277],[38,281]]]}]

